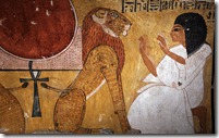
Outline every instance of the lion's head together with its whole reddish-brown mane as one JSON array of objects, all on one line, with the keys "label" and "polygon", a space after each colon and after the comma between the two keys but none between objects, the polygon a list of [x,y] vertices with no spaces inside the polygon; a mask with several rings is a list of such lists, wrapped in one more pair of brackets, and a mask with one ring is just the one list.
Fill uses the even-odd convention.
[{"label": "lion's head together with its whole reddish-brown mane", "polygon": [[120,36],[126,36],[131,22],[115,10],[96,8],[92,10],[83,22],[83,61],[89,51],[100,45],[113,48],[119,58],[119,70],[124,64],[124,48]]}]

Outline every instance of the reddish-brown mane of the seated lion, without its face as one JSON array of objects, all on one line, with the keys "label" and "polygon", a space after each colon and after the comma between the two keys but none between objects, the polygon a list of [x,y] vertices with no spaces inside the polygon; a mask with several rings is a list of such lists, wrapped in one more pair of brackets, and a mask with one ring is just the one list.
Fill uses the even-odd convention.
[{"label": "reddish-brown mane of the seated lion, without its face", "polygon": [[83,43],[83,62],[85,63],[88,53],[100,45],[107,45],[111,47],[119,60],[118,74],[121,73],[124,65],[124,46],[120,38],[112,37],[104,32],[102,27],[93,21],[92,15],[98,10],[109,10],[106,8],[96,8],[92,10],[83,21],[82,28],[82,43]]}]

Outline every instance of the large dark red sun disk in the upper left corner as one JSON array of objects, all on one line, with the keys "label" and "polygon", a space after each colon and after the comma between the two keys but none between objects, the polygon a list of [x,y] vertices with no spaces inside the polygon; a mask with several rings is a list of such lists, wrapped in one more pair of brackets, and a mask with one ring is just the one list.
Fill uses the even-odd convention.
[{"label": "large dark red sun disk in the upper left corner", "polygon": [[0,0],[0,46],[24,59],[62,52],[75,35],[70,0]]}]

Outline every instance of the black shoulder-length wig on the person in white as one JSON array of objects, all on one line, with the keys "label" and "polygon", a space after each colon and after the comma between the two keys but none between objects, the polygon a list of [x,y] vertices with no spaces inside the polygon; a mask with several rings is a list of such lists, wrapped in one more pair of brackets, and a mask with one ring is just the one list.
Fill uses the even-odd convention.
[{"label": "black shoulder-length wig on the person in white", "polygon": [[198,50],[206,40],[207,26],[198,13],[183,13],[175,18],[174,24],[180,24],[185,32],[187,55]]}]

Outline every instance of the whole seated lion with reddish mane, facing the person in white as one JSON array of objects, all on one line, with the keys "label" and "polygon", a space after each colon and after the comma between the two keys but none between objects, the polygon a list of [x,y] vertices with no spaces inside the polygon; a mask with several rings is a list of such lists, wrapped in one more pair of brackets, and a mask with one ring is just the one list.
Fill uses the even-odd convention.
[{"label": "whole seated lion with reddish mane, facing the person in white", "polygon": [[131,22],[115,10],[96,8],[83,22],[83,71],[69,86],[70,91],[62,92],[54,108],[54,127],[58,131],[75,134],[111,134],[111,129],[84,128],[86,97],[102,80],[109,87],[114,113],[118,114],[123,133],[138,134],[131,128],[126,118],[121,71],[124,65],[124,46],[119,38],[126,36]]}]

